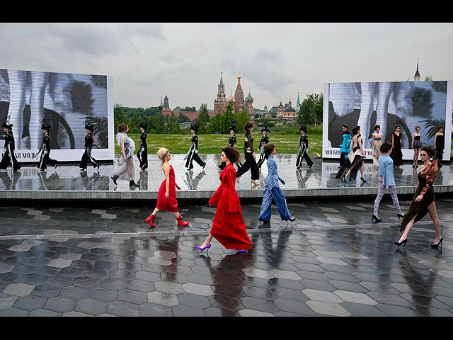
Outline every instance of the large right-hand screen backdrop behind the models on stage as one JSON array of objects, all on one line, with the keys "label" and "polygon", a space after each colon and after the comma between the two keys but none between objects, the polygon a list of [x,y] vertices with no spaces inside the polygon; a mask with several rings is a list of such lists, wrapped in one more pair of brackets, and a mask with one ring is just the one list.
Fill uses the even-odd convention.
[{"label": "large right-hand screen backdrop behind the models on stage", "polygon": [[444,160],[450,159],[453,81],[389,81],[325,83],[323,102],[323,158],[340,158],[342,125],[360,126],[367,159],[372,157],[374,125],[381,126],[382,142],[391,142],[401,125],[403,159],[413,159],[415,126],[423,145],[434,146],[437,125],[444,125]]}]

